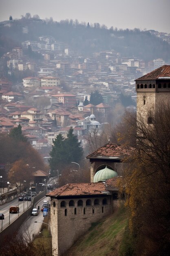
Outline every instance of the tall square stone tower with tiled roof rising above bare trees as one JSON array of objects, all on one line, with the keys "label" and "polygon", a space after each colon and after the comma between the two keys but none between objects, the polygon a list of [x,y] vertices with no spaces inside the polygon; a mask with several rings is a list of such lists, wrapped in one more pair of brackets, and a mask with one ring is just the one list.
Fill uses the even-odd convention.
[{"label": "tall square stone tower with tiled roof rising above bare trees", "polygon": [[155,109],[157,104],[170,101],[170,65],[163,65],[135,81],[137,118],[140,114],[150,124],[150,110]]}]

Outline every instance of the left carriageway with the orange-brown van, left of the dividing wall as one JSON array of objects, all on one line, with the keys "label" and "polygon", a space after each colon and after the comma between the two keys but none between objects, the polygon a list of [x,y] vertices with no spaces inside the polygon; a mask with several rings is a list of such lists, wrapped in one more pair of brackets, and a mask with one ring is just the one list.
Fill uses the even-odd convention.
[{"label": "left carriageway with the orange-brown van, left of the dividing wall", "polygon": [[[9,207],[11,205],[18,206],[20,208],[19,213],[9,213]],[[0,220],[0,231],[6,228],[11,222],[13,222],[21,213],[31,206],[30,201],[18,201],[18,198],[7,202],[0,206],[0,213],[4,214],[4,220]]]}]

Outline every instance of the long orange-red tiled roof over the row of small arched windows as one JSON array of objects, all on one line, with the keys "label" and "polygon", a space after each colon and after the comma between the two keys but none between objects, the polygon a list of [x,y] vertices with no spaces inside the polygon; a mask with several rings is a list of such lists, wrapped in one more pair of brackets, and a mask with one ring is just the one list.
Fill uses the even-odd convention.
[{"label": "long orange-red tiled roof over the row of small arched windows", "polygon": [[49,196],[101,195],[106,194],[105,184],[98,183],[69,183],[48,193]]}]

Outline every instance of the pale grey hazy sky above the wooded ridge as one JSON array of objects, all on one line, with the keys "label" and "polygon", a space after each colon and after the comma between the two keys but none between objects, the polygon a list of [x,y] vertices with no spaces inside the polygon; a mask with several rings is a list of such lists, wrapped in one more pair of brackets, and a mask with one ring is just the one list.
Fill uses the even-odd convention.
[{"label": "pale grey hazy sky above the wooded ridge", "polygon": [[41,19],[77,19],[108,28],[155,29],[170,33],[170,0],[0,0],[0,21],[25,13]]}]

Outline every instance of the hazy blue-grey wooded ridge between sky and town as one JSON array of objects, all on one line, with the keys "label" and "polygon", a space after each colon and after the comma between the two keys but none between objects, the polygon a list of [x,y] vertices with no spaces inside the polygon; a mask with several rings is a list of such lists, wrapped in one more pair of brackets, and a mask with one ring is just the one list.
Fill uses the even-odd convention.
[{"label": "hazy blue-grey wooded ridge between sky and town", "polygon": [[[50,20],[26,19],[9,21],[4,26],[0,22],[0,56],[10,51],[12,47],[21,45],[25,40],[38,40],[39,36],[53,36],[77,50],[83,56],[94,52],[115,50],[124,57],[141,58],[150,61],[163,58],[170,62],[170,45],[161,38],[151,35],[149,31],[139,29],[122,30],[93,27],[79,24],[73,20],[54,22]],[[26,28],[27,34],[23,33]]]}]

